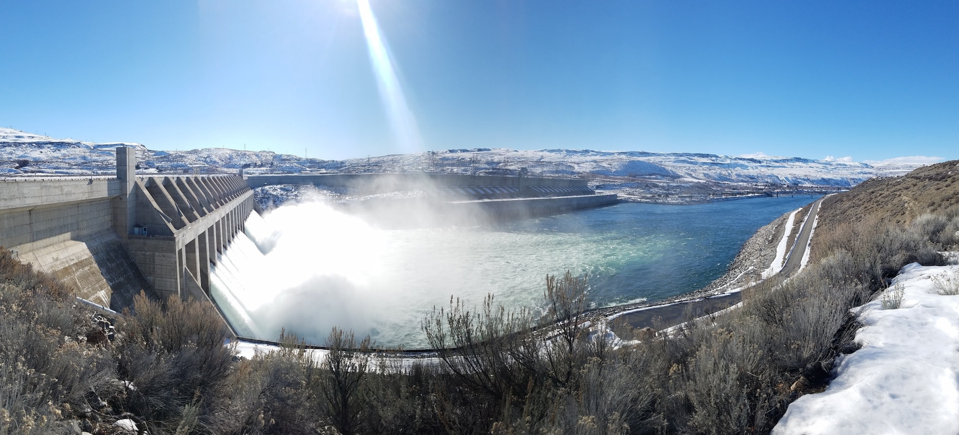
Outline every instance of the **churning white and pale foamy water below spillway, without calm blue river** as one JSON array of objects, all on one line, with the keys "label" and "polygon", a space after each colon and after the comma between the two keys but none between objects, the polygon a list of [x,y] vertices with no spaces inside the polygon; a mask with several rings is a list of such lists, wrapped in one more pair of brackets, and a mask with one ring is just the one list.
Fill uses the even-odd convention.
[{"label": "churning white and pale foamy water below spillway, without calm blue river", "polygon": [[[385,344],[423,345],[418,326],[451,295],[535,307],[546,273],[591,272],[617,246],[569,232],[489,228],[385,230],[322,203],[246,220],[211,273],[212,294],[240,335],[280,328],[321,343],[333,326]],[[622,247],[625,248],[625,247]],[[598,269],[592,272],[599,272]],[[508,291],[504,291],[508,289]]]}]

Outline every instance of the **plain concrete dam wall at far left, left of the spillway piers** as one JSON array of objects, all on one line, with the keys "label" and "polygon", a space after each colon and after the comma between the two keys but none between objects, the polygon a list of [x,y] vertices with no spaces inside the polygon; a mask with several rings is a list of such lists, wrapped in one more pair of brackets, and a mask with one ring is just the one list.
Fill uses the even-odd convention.
[{"label": "plain concrete dam wall at far left, left of the spillway piers", "polygon": [[116,180],[0,182],[0,246],[122,310],[150,287],[113,228]]}]

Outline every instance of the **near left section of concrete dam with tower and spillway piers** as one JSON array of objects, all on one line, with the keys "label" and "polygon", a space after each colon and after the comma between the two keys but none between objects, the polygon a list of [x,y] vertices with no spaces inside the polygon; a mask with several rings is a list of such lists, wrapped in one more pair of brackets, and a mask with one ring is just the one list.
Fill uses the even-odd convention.
[{"label": "near left section of concrete dam with tower and spillway piers", "polygon": [[253,192],[237,176],[137,176],[134,149],[116,152],[116,177],[0,179],[0,246],[113,310],[140,292],[206,298]]}]

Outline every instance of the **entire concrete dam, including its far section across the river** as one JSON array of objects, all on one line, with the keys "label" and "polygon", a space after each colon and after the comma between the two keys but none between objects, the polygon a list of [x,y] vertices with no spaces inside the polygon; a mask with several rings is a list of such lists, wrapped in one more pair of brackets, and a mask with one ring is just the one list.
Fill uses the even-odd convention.
[{"label": "entire concrete dam, including its far section across the river", "polygon": [[[425,191],[437,209],[503,216],[617,202],[584,180],[433,174],[136,175],[117,148],[116,177],[0,180],[0,246],[71,285],[78,297],[122,311],[135,294],[210,298],[210,271],[250,213],[251,188],[349,187],[363,194]],[[522,212],[522,213],[521,213]],[[212,303],[212,302],[211,302]]]}]

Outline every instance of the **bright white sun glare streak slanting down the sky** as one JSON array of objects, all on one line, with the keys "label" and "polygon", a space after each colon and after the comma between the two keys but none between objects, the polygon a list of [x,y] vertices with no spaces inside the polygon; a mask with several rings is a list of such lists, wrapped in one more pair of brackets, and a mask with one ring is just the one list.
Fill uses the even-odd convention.
[{"label": "bright white sun glare streak slanting down the sky", "polygon": [[393,61],[386,50],[380,26],[376,22],[373,10],[369,7],[368,0],[357,0],[357,5],[360,7],[360,20],[363,23],[369,59],[373,63],[373,72],[376,74],[376,82],[380,88],[380,98],[383,98],[386,105],[386,116],[389,118],[393,134],[396,135],[403,152],[420,151],[422,141],[416,127],[416,119],[409,111],[407,98],[403,94]]}]

